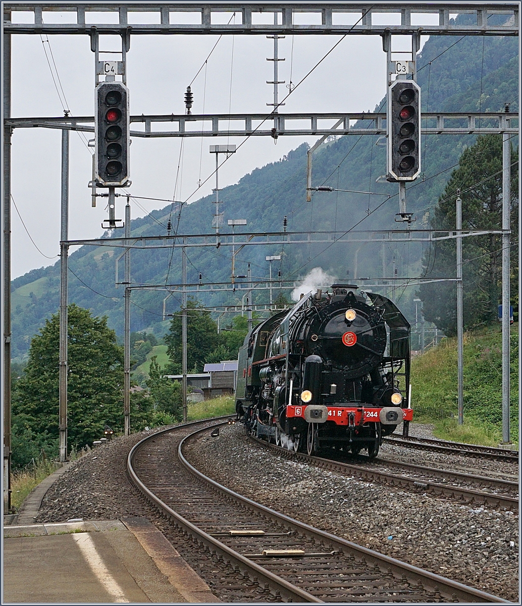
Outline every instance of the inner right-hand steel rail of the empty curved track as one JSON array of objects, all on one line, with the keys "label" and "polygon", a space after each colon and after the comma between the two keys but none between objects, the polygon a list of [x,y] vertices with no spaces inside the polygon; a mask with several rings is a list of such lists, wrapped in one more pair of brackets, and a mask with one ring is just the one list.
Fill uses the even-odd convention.
[{"label": "inner right-hand steel rail of the empty curved track", "polygon": [[323,539],[328,541],[328,544],[331,544],[335,549],[339,549],[340,551],[346,552],[351,551],[352,553],[356,553],[358,557],[365,558],[366,562],[372,562],[380,566],[381,568],[388,568],[397,573],[400,578],[408,578],[409,580],[420,582],[425,588],[429,588],[430,590],[438,590],[441,594],[446,594],[451,601],[463,601],[463,602],[502,602],[502,603],[510,603],[509,600],[505,600],[498,596],[494,596],[492,594],[486,593],[474,587],[467,587],[464,584],[461,584],[457,581],[452,581],[451,579],[444,578],[438,574],[431,573],[427,570],[422,570],[421,568],[417,568],[412,566],[411,564],[407,564],[406,562],[401,562],[395,558],[391,558],[390,556],[386,556],[385,554],[378,553],[377,551],[368,549],[367,547],[363,547],[362,545],[357,545],[352,543],[351,541],[347,541],[346,539],[334,536],[326,531],[319,530],[319,528],[314,528],[305,524],[304,522],[300,522],[294,518],[290,518],[283,513],[279,513],[269,507],[265,507],[265,505],[261,505],[248,499],[241,494],[236,493],[230,488],[226,488],[225,486],[219,484],[214,481],[205,474],[201,473],[197,470],[190,462],[187,461],[185,456],[183,456],[182,448],[183,444],[188,441],[188,439],[193,438],[197,433],[200,433],[204,430],[195,431],[192,435],[187,436],[182,439],[178,447],[178,456],[180,461],[187,467],[197,478],[201,479],[203,482],[210,484],[216,490],[227,494],[237,502],[246,505],[247,507],[257,511],[259,513],[264,514],[270,519],[273,519],[277,522],[283,522],[285,525],[291,527],[299,528],[306,536],[317,536],[319,539]]}]

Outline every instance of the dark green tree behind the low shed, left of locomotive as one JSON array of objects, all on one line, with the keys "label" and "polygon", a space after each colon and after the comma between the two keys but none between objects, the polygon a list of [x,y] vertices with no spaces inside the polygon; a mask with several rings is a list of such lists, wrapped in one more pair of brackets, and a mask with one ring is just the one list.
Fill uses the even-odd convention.
[{"label": "dark green tree behind the low shed, left of locomotive", "polygon": [[[167,354],[170,358],[168,371],[179,375],[182,364],[182,311],[176,311],[170,328],[164,337]],[[206,358],[217,346],[217,324],[210,316],[210,311],[192,297],[187,301],[187,368],[203,370]]]}]

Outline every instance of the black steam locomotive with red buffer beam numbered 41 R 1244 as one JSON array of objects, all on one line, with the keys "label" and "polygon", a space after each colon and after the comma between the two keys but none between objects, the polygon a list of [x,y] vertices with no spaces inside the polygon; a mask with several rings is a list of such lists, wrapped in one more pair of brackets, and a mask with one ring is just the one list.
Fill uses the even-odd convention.
[{"label": "black steam locomotive with red buffer beam numbered 41 R 1244", "polygon": [[408,435],[409,323],[390,299],[357,291],[309,293],[246,335],[236,412],[248,433],[296,452],[369,458],[401,422]]}]

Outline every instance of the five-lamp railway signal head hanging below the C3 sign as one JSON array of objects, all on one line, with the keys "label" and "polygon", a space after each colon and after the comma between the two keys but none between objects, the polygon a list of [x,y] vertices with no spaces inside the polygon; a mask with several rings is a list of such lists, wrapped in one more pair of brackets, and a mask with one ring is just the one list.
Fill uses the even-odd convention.
[{"label": "five-lamp railway signal head hanging below the C3 sign", "polygon": [[420,173],[420,87],[395,80],[388,88],[388,180],[414,181]]}]

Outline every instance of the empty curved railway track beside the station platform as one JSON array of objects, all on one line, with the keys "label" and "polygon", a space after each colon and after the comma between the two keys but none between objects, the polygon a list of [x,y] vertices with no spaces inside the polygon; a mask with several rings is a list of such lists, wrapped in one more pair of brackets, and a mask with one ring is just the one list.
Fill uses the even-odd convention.
[{"label": "empty curved railway track beside the station platform", "polygon": [[[221,572],[213,573],[220,591],[228,589],[229,599],[232,592],[230,601],[259,601],[250,586],[262,587],[266,601],[509,603],[312,528],[206,478],[185,459],[183,445],[201,431],[210,436],[210,427],[186,424],[149,436],[130,451],[127,468],[162,513],[219,559]],[[242,574],[242,585],[231,586],[230,571]]]}]

